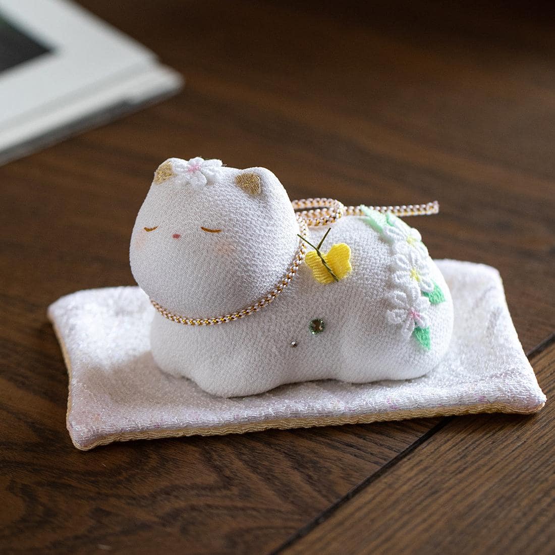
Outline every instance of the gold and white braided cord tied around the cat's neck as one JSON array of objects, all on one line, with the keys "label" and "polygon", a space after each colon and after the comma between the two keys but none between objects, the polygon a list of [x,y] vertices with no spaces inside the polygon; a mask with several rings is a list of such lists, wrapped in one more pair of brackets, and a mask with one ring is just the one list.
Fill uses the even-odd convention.
[{"label": "gold and white braided cord tied around the cat's neck", "polygon": [[[339,220],[342,216],[364,216],[361,206],[344,206],[339,200],[335,199],[300,199],[291,201],[293,209],[296,212],[297,222],[299,223],[300,236],[306,237],[308,235],[309,227],[317,227],[320,225],[331,225]],[[436,201],[427,204],[409,204],[400,206],[367,206],[371,210],[376,210],[381,213],[391,213],[396,216],[424,216],[437,214],[440,206]],[[188,318],[174,314],[169,310],[160,306],[158,302],[150,299],[154,308],[168,320],[183,324],[185,326],[213,326],[216,324],[224,324],[233,320],[239,320],[253,312],[258,312],[265,306],[268,306],[278,295],[290,284],[291,280],[299,271],[299,266],[306,256],[306,245],[302,239],[299,239],[299,246],[295,253],[295,258],[287,270],[286,274],[281,278],[279,284],[274,289],[268,292],[261,299],[254,304],[246,307],[243,310],[234,312],[233,314],[226,314],[224,316],[214,316],[211,318]]]}]

